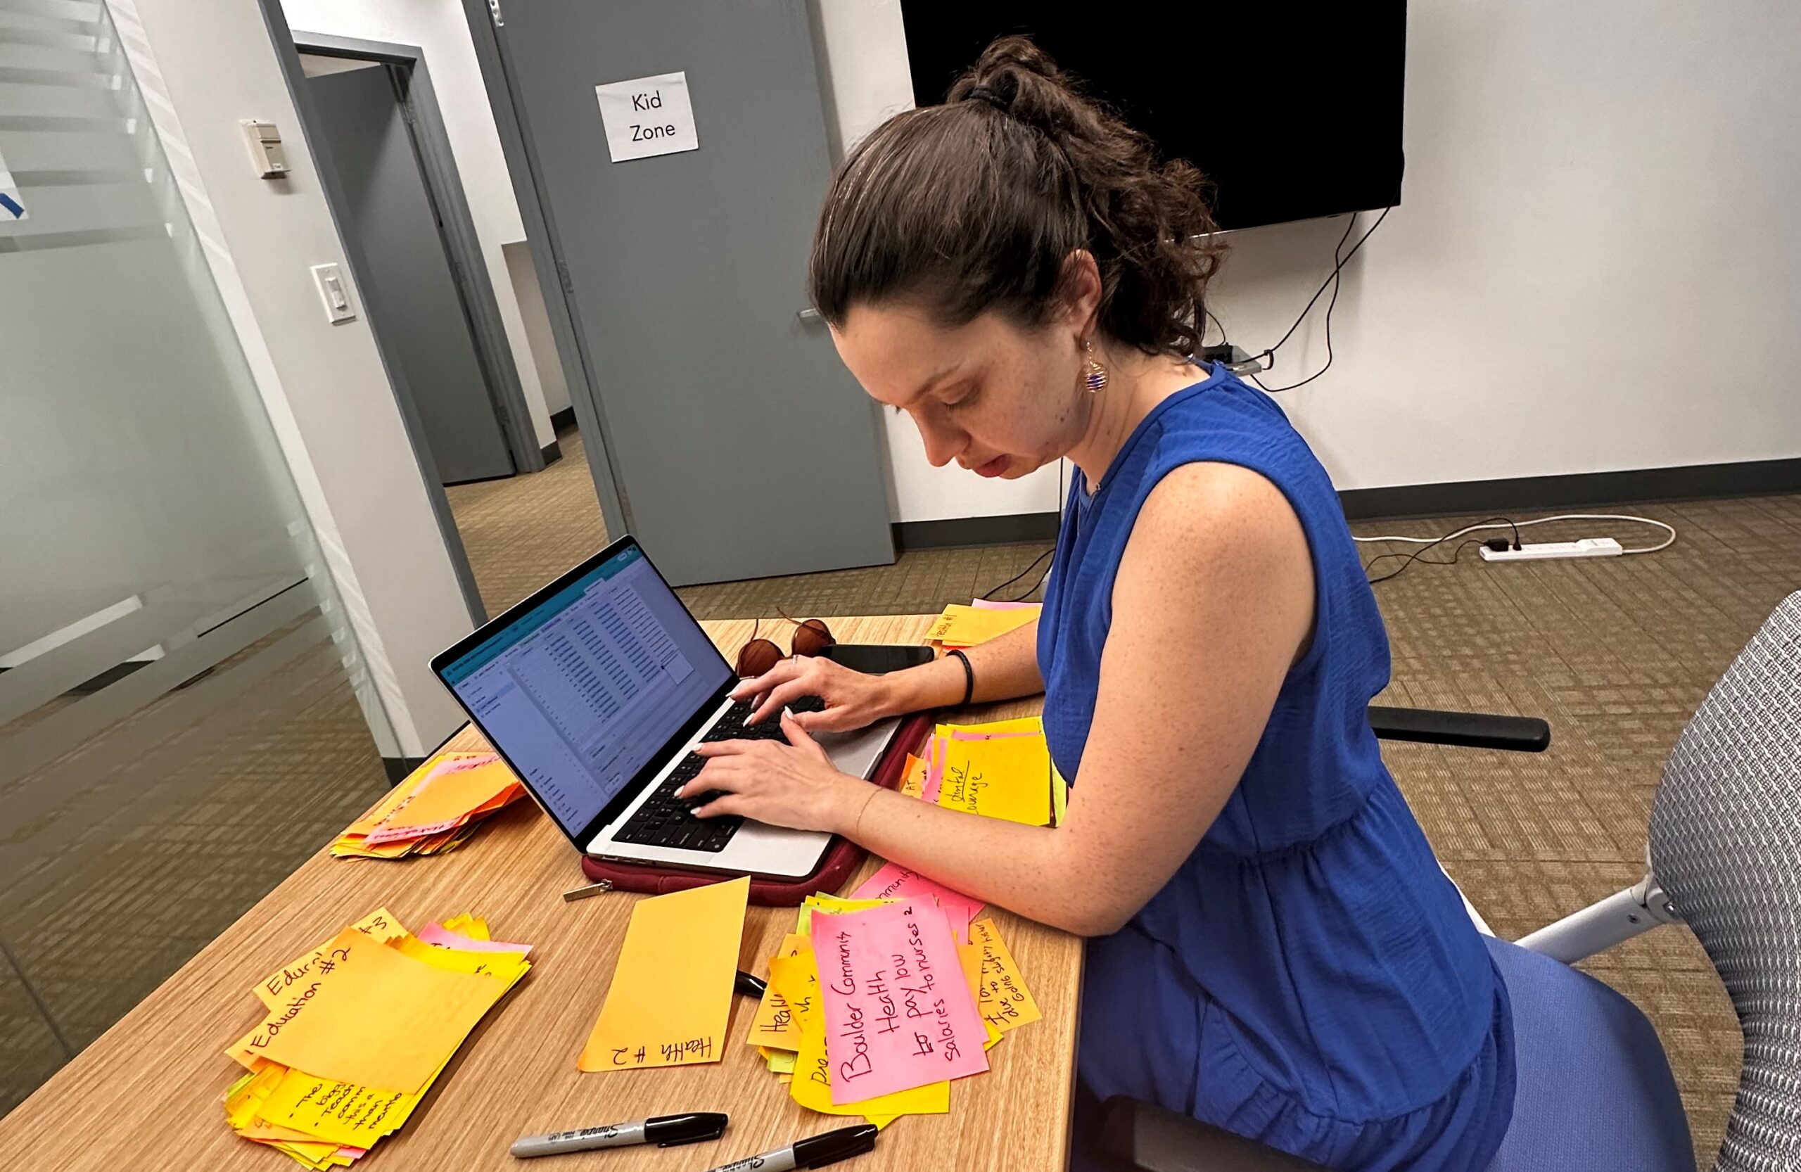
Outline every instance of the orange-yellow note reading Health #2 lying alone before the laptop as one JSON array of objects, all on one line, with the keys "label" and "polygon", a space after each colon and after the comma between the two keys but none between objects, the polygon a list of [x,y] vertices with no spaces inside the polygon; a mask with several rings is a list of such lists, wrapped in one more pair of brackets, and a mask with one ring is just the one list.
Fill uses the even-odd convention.
[{"label": "orange-yellow note reading Health #2 lying alone before the laptop", "polygon": [[585,1071],[724,1059],[751,880],[639,900],[607,1001],[576,1062]]}]

